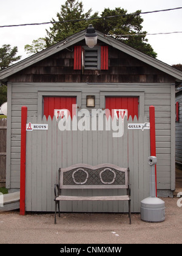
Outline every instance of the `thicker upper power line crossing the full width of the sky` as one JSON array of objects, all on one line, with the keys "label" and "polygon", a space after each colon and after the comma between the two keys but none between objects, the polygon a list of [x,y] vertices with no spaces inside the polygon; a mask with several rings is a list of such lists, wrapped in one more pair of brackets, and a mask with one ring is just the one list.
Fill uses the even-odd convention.
[{"label": "thicker upper power line crossing the full width of the sky", "polygon": [[106,17],[95,17],[95,18],[89,18],[89,19],[79,19],[79,20],[66,20],[66,21],[49,21],[44,23],[27,23],[27,24],[17,24],[17,25],[4,25],[1,27],[21,27],[21,26],[37,26],[37,25],[46,25],[46,24],[56,24],[56,23],[69,23],[69,22],[78,22],[78,21],[92,21],[92,20],[106,20],[110,18],[117,18],[117,17],[126,17],[126,16],[136,16],[140,14],[149,14],[149,13],[157,13],[157,12],[169,12],[171,10],[179,10],[182,9],[182,7],[176,7],[172,9],[164,9],[164,10],[154,10],[151,12],[137,12],[137,13],[130,13],[130,14],[121,14],[121,15],[113,15],[113,16],[106,16]]}]

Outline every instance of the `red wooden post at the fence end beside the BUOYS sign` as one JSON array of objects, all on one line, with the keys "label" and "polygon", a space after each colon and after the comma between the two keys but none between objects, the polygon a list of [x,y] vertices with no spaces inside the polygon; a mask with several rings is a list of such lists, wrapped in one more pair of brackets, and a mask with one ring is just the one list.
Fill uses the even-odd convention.
[{"label": "red wooden post at the fence end beside the BUOYS sign", "polygon": [[26,164],[26,124],[27,107],[21,108],[21,163],[19,214],[25,215],[25,164]]}]

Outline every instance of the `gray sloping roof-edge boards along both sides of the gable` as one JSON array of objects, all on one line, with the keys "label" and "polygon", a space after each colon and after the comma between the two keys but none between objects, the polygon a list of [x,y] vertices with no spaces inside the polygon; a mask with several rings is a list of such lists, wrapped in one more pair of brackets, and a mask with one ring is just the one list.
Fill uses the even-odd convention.
[{"label": "gray sloping roof-edge boards along both sides of the gable", "polygon": [[[98,40],[103,41],[106,44],[109,44],[110,46],[125,52],[126,54],[131,55],[132,57],[141,60],[144,63],[147,63],[150,66],[153,66],[154,68],[160,69],[164,73],[169,74],[172,77],[175,77],[175,79],[179,82],[182,81],[182,72],[178,71],[175,68],[172,68],[172,66],[167,65],[164,62],[161,62],[160,60],[157,60],[153,57],[150,57],[146,54],[143,54],[140,51],[137,51],[130,46],[127,46],[124,43],[121,43],[120,41],[117,41],[113,38],[107,37],[107,35],[102,34],[99,31],[96,31],[98,34]],[[0,80],[8,80],[7,78],[9,76],[12,76],[13,74],[21,71],[24,68],[27,68],[36,62],[39,62],[40,60],[43,60],[50,55],[56,54],[56,52],[61,51],[62,49],[68,48],[69,46],[72,46],[73,44],[78,43],[81,40],[84,40],[86,34],[86,30],[83,30],[75,35],[72,35],[68,37],[66,40],[62,40],[59,43],[56,43],[53,46],[50,46],[49,48],[38,52],[37,54],[34,54],[30,56],[27,59],[21,60],[20,62],[16,63],[15,65],[12,65],[0,72]]]}]

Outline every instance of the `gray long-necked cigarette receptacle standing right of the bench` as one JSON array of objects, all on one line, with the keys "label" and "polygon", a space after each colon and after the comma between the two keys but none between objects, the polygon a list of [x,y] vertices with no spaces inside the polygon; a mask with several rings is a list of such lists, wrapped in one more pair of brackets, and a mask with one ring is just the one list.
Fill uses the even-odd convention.
[{"label": "gray long-necked cigarette receptacle standing right of the bench", "polygon": [[155,165],[156,157],[149,157],[150,165],[150,197],[141,201],[141,220],[161,222],[165,220],[165,202],[155,196]]}]

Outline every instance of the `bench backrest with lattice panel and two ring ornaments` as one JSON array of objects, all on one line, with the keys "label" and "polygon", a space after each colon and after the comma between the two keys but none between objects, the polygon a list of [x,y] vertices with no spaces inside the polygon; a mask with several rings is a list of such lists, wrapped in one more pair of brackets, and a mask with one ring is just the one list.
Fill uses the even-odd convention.
[{"label": "bench backrest with lattice panel and two ring ornaments", "polygon": [[104,163],[59,168],[59,188],[128,188],[129,168]]}]

